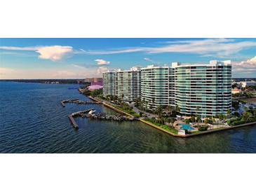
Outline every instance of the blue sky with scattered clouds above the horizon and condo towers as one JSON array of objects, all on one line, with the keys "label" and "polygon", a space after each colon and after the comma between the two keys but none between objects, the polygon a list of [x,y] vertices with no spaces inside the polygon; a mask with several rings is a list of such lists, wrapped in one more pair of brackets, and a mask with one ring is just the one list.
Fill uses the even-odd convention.
[{"label": "blue sky with scattered clouds above the horizon and condo towers", "polygon": [[209,60],[231,60],[234,77],[256,77],[256,39],[0,39],[0,78],[85,78]]}]

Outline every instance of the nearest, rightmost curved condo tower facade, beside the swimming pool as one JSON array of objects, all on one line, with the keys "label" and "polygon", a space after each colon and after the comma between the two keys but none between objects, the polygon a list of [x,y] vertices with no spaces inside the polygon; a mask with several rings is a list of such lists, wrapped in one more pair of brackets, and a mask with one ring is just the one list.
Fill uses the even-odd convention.
[{"label": "nearest, rightmost curved condo tower facade, beside the swimming pool", "polygon": [[227,114],[231,109],[231,63],[175,66],[176,104],[182,114],[204,117]]}]

